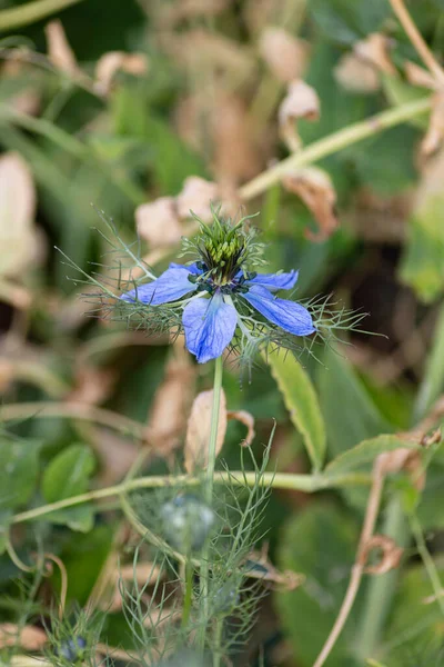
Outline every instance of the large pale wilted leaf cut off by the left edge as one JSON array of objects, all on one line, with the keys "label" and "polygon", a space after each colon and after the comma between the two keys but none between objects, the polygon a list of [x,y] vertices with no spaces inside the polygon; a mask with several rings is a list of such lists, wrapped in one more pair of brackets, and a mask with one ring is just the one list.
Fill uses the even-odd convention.
[{"label": "large pale wilted leaf cut off by the left edge", "polygon": [[18,276],[38,256],[33,226],[36,188],[27,162],[18,153],[0,158],[0,276]]}]

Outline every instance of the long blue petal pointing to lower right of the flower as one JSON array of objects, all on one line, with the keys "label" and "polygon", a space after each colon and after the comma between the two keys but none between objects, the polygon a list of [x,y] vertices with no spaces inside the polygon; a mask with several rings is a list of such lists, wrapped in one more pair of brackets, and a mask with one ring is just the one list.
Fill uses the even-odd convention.
[{"label": "long blue petal pointing to lower right of the flower", "polygon": [[294,336],[309,336],[316,329],[312,316],[301,303],[278,299],[264,287],[251,287],[246,293],[240,295],[259,310],[268,320]]}]

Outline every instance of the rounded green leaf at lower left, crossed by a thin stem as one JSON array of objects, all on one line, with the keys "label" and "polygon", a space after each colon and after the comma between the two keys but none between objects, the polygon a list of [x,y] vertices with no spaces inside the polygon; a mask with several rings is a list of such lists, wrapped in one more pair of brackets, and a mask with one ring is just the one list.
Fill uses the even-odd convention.
[{"label": "rounded green leaf at lower left, crossed by a thin stem", "polygon": [[[90,447],[72,445],[61,451],[49,464],[42,480],[42,494],[47,502],[64,500],[88,490],[89,479],[95,468],[95,459]],[[53,511],[48,515],[53,524],[63,524],[88,532],[93,525],[93,510],[89,505]]]}]

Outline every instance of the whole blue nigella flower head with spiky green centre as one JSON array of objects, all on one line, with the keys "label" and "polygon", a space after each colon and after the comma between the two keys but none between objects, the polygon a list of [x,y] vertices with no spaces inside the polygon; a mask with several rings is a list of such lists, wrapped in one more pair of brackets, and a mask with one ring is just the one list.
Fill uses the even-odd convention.
[{"label": "whole blue nigella flower head with spiky green centre", "polygon": [[184,242],[185,251],[193,251],[198,261],[171,263],[157,280],[121,299],[153,311],[164,305],[180,308],[186,348],[200,364],[220,357],[236,331],[254,345],[276,330],[299,337],[313,334],[316,329],[309,310],[275,296],[294,287],[297,271],[256,272],[254,265],[263,263],[263,247],[244,228],[245,219],[233,226],[219,211],[213,217],[211,227],[201,222],[198,237]]}]

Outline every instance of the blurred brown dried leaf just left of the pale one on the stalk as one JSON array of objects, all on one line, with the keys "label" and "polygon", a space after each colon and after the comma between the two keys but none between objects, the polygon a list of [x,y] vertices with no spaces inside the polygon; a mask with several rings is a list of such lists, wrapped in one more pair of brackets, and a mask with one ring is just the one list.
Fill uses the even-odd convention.
[{"label": "blurred brown dried leaf just left of the pale one on the stalk", "polygon": [[165,376],[155,392],[147,427],[147,439],[153,450],[169,457],[179,446],[193,397],[195,368],[182,346],[174,346]]}]

